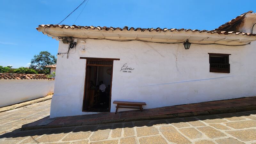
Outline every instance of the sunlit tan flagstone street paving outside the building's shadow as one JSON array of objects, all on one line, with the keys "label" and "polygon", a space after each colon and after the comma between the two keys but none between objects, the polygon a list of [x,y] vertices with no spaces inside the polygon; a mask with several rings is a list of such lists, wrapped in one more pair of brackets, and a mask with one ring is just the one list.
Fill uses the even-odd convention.
[{"label": "sunlit tan flagstone street paving outside the building's shadow", "polygon": [[2,143],[256,143],[256,111],[20,131],[49,115],[50,100],[0,113]]}]

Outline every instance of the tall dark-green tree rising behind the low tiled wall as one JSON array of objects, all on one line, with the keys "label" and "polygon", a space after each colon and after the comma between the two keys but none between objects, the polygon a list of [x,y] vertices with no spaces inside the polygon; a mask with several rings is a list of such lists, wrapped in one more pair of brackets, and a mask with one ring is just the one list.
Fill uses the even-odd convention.
[{"label": "tall dark-green tree rising behind the low tiled wall", "polygon": [[56,56],[50,52],[42,51],[38,55],[34,55],[29,68],[35,69],[40,74],[50,74],[51,68],[45,68],[44,66],[56,64],[56,61]]}]

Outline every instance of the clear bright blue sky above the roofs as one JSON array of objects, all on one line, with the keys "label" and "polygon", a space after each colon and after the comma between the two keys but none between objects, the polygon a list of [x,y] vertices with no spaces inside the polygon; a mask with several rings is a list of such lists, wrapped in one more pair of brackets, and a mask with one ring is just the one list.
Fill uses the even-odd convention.
[{"label": "clear bright blue sky above the roofs", "polygon": [[[56,55],[58,42],[37,32],[36,27],[59,23],[82,1],[2,0],[0,65],[26,67],[41,51]],[[89,0],[77,20],[84,5],[63,24],[212,30],[244,12],[256,12],[255,5],[255,0]]]}]

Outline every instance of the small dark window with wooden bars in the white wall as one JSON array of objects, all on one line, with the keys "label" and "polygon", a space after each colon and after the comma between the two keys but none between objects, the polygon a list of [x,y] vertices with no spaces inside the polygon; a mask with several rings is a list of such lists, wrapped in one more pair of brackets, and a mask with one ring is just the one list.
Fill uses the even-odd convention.
[{"label": "small dark window with wooden bars in the white wall", "polygon": [[229,55],[222,53],[208,53],[210,72],[230,73]]}]

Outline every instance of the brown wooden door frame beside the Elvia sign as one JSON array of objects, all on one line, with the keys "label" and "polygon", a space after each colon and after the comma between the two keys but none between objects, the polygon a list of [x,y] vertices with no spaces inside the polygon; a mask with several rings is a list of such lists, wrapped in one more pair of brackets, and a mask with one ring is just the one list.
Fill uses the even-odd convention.
[{"label": "brown wooden door frame beside the Elvia sign", "polygon": [[[112,97],[112,78],[113,78],[114,60],[120,60],[120,59],[113,59],[113,58],[90,58],[90,57],[80,57],[80,59],[86,59],[85,78],[84,78],[84,98],[83,98],[82,112],[89,112],[89,111],[84,110],[84,105],[85,105],[84,104],[84,100],[86,100],[85,96],[87,94],[86,91],[85,91],[85,88],[86,88],[86,77],[87,77],[87,65],[88,66],[99,66],[99,65],[87,64],[87,60],[99,60],[99,61],[112,61],[113,62],[112,66],[106,65],[107,67],[111,67],[111,80],[110,80],[109,106],[108,106],[108,111],[110,112],[110,109],[111,109],[111,97]],[[101,66],[103,66],[103,65],[101,65]]]}]

